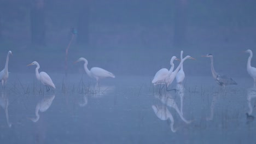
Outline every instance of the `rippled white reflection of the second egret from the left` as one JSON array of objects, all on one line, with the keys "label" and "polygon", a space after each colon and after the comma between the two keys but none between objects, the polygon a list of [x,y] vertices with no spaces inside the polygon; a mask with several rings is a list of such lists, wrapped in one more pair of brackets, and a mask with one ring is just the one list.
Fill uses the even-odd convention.
[{"label": "rippled white reflection of the second egret from the left", "polygon": [[40,112],[45,112],[46,110],[49,109],[49,107],[51,106],[51,103],[53,103],[53,100],[55,98],[55,94],[53,95],[44,95],[44,98],[42,100],[40,100],[38,103],[37,103],[37,106],[36,106],[36,118],[30,118],[31,121],[33,122],[37,122],[39,120],[39,111]]}]

